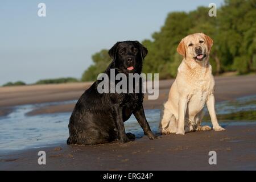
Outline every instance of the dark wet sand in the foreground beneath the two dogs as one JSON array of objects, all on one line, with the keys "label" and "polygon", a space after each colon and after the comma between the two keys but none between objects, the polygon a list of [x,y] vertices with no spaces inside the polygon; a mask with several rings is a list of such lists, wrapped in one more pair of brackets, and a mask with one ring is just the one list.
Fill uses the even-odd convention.
[{"label": "dark wet sand in the foreground beneath the two dogs", "polygon": [[[0,170],[256,170],[256,125],[146,137],[121,144],[31,149],[0,156]],[[46,165],[38,151],[46,151]],[[209,151],[217,152],[210,165]]]}]

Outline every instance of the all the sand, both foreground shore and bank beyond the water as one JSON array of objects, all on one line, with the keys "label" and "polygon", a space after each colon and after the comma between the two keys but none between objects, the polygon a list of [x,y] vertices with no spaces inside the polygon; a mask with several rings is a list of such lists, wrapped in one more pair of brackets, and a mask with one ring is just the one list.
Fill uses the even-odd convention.
[{"label": "all the sand, both foreground shore and bank beyond the water", "polygon": [[[256,94],[256,76],[216,77],[216,100],[232,101]],[[167,100],[174,80],[159,83],[158,100],[144,101],[145,109],[159,109]],[[24,104],[77,100],[92,83],[32,85],[0,88],[0,115]],[[28,115],[72,111],[74,104],[40,107]],[[158,139],[137,138],[121,144],[67,146],[0,154],[0,170],[256,170],[256,124],[226,125],[225,131],[163,135]],[[38,151],[46,151],[47,164],[38,164]],[[217,165],[209,165],[209,151],[217,152]]]}]

